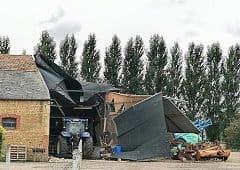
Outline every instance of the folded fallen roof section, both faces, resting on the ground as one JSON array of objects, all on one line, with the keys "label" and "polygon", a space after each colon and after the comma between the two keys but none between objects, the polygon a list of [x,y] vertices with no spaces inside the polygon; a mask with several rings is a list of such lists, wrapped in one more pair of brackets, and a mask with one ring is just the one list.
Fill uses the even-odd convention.
[{"label": "folded fallen roof section, both faces, resting on the ground", "polygon": [[123,152],[113,157],[129,160],[169,158],[167,132],[199,133],[191,121],[161,94],[131,106],[114,121]]}]

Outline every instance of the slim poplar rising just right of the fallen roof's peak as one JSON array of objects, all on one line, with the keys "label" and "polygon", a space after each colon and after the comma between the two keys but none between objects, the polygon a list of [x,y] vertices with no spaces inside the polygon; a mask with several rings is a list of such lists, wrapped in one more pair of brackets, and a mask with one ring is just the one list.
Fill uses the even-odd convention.
[{"label": "slim poplar rising just right of the fallen roof's peak", "polygon": [[182,83],[182,50],[176,42],[170,50],[171,61],[167,70],[167,88],[168,96],[180,98]]}]

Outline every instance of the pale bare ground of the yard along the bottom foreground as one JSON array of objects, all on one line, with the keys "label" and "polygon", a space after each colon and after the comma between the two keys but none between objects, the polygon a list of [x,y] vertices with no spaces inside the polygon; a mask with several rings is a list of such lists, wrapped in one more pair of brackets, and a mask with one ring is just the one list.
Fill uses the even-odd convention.
[{"label": "pale bare ground of the yard along the bottom foreground", "polygon": [[[71,160],[56,159],[53,162],[13,162],[10,168],[6,163],[0,163],[0,170],[68,170],[71,168]],[[162,160],[158,162],[128,162],[128,161],[107,161],[107,160],[83,160],[83,170],[238,170],[240,169],[240,152],[232,152],[229,160],[216,161],[177,161]]]}]

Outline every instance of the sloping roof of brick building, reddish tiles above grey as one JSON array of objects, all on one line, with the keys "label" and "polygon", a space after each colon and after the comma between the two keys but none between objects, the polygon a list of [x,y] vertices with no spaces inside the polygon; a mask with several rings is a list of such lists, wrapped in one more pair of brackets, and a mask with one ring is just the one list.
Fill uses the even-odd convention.
[{"label": "sloping roof of brick building, reddish tiles above grey", "polygon": [[31,55],[0,55],[0,98],[49,100],[49,92]]}]

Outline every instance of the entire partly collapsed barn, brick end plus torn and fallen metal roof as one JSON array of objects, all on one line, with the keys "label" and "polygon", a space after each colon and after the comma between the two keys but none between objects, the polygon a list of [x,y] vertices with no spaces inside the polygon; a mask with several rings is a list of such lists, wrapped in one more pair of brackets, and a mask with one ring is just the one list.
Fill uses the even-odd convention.
[{"label": "entire partly collapsed barn, brick end plus torn and fallen metal roof", "polygon": [[1,54],[0,89],[5,144],[25,146],[28,160],[36,152],[41,161],[56,154],[65,117],[88,120],[94,146],[120,144],[118,157],[130,160],[169,157],[168,132],[198,132],[161,94],[121,94],[111,85],[78,81],[41,56]]}]

